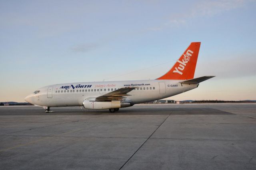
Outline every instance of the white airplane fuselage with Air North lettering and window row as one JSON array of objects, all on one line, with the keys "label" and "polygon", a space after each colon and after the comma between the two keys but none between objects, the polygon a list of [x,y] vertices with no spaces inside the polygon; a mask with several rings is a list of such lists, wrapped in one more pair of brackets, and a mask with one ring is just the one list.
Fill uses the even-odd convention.
[{"label": "white airplane fuselage with Air North lettering and window row", "polygon": [[38,89],[38,93],[30,94],[26,101],[47,107],[82,106],[87,98],[96,98],[118,88],[136,87],[130,91],[125,100],[133,104],[150,102],[167,98],[192,90],[198,84],[181,84],[180,80],[136,80],[116,82],[79,82],[54,84]]}]

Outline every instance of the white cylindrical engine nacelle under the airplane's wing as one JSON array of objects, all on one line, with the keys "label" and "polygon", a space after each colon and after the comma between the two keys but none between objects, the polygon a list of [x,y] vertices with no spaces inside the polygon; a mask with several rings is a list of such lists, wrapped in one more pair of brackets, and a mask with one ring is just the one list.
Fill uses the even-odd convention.
[{"label": "white cylindrical engine nacelle under the airplane's wing", "polygon": [[90,101],[84,100],[83,102],[84,108],[86,109],[112,109],[112,108],[125,108],[132,106],[130,103],[121,103],[121,101],[111,101],[111,102],[100,102],[100,101]]}]

